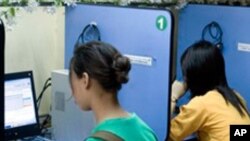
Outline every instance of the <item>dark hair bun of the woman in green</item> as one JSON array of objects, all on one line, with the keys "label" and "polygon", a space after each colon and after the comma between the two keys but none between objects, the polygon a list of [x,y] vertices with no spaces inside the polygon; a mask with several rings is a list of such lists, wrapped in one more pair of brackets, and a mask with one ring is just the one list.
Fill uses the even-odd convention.
[{"label": "dark hair bun of the woman in green", "polygon": [[131,68],[129,58],[122,55],[115,56],[112,67],[115,70],[116,81],[127,83],[129,80],[128,72]]}]

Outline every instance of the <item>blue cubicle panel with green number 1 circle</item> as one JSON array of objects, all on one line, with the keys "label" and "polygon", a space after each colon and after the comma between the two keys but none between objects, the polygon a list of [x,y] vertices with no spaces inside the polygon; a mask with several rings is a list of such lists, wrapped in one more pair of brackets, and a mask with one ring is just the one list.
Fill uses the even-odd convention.
[{"label": "blue cubicle panel with green number 1 circle", "polygon": [[166,137],[169,124],[172,16],[167,10],[81,5],[66,9],[65,68],[83,28],[94,21],[101,40],[132,62],[129,82],[119,92],[121,105]]}]

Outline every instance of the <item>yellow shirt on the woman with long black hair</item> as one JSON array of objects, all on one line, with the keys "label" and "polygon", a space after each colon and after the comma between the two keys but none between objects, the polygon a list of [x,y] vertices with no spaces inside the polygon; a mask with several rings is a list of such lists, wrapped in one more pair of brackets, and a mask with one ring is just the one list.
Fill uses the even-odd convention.
[{"label": "yellow shirt on the woman with long black hair", "polygon": [[216,90],[209,91],[180,108],[180,113],[171,120],[170,138],[180,141],[196,132],[200,141],[229,141],[230,125],[250,124],[245,111],[244,114],[241,117]]}]

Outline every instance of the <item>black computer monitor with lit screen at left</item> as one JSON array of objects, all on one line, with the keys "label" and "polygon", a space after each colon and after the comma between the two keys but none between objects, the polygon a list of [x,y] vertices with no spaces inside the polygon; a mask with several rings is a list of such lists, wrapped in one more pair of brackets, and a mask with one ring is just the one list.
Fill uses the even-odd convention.
[{"label": "black computer monitor with lit screen at left", "polygon": [[5,140],[40,134],[32,71],[5,74]]}]

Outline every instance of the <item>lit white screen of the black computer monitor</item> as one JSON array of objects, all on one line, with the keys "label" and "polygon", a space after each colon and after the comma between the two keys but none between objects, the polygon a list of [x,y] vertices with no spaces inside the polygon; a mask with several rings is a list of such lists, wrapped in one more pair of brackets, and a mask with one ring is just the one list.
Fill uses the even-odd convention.
[{"label": "lit white screen of the black computer monitor", "polygon": [[5,86],[5,129],[36,123],[29,78],[9,80]]}]

